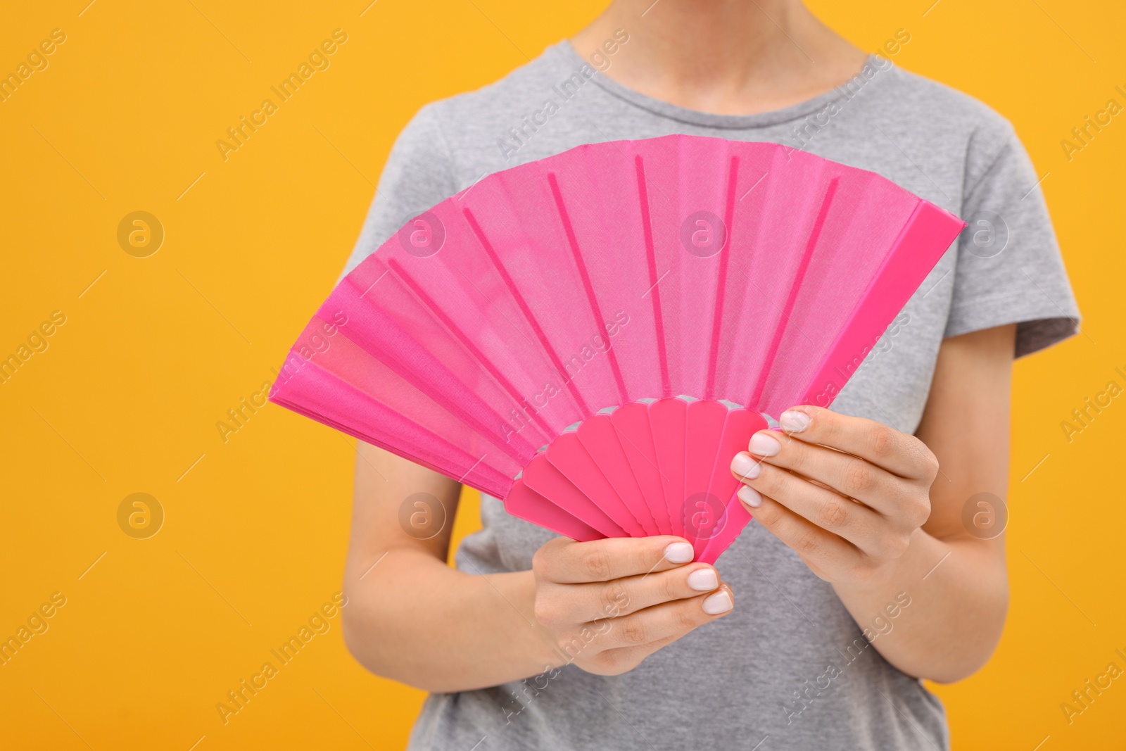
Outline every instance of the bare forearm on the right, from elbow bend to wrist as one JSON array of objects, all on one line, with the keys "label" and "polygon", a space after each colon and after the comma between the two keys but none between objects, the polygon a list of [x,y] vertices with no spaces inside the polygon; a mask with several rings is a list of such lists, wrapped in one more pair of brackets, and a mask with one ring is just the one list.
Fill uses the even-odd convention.
[{"label": "bare forearm on the right, from elbow bend to wrist", "polygon": [[893,665],[938,682],[960,680],[985,663],[1004,626],[1008,581],[991,544],[919,529],[886,573],[833,588]]}]

